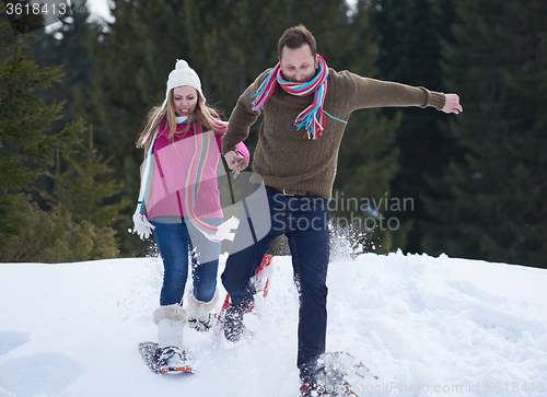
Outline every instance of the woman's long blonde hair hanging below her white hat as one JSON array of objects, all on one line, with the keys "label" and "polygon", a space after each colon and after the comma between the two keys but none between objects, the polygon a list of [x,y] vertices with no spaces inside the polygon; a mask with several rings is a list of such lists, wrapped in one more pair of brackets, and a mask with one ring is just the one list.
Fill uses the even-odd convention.
[{"label": "woman's long blonde hair hanging below her white hat", "polygon": [[[174,89],[173,89],[174,90]],[[167,117],[167,126],[170,129],[168,139],[172,140],[175,137],[177,124],[175,119],[175,106],[173,100],[173,90],[170,91],[167,95],[167,105],[164,106],[154,106],[148,114],[147,126],[142,130],[139,139],[137,140],[137,148],[149,147],[152,143],[152,137],[160,127],[160,124],[163,121],[165,117]],[[188,115],[188,120],[190,122],[186,122],[186,128],[184,129],[184,133],[188,132],[190,125],[199,124],[203,127],[203,131],[213,131],[217,135],[223,135],[225,124],[220,120],[219,113],[212,107],[207,106],[201,96],[198,95],[198,102],[196,104],[196,109],[194,113]]]}]

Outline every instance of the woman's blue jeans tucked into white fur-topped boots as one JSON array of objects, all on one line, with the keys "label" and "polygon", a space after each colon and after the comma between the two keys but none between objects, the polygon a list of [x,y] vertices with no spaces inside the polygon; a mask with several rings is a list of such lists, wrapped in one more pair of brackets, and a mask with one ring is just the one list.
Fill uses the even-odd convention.
[{"label": "woman's blue jeans tucked into white fur-topped boots", "polygon": [[[154,237],[163,259],[163,285],[160,305],[183,304],[183,296],[191,262],[194,296],[210,302],[217,290],[217,275],[221,243],[209,241],[187,219],[178,218],[176,223],[161,222],[164,217],[152,220]],[[173,217],[170,217],[173,219]],[[161,219],[161,221],[158,221]],[[203,219],[218,226],[222,219]]]}]

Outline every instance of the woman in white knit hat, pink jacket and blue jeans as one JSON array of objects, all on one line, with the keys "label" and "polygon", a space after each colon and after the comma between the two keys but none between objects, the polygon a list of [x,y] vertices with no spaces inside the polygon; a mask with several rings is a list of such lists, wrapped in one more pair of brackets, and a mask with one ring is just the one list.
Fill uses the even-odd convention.
[{"label": "woman in white knit hat, pink jacket and blue jeans", "polygon": [[[133,233],[148,238],[154,231],[164,266],[160,307],[154,312],[158,342],[160,353],[163,349],[175,359],[182,353],[187,322],[198,330],[211,326],[221,242],[232,240],[231,230],[237,226],[235,219],[222,222],[217,183],[225,128],[226,122],[206,105],[198,74],[185,60],[177,60],[165,101],[152,108],[137,141],[147,154]],[[234,152],[229,165],[242,171],[248,164],[248,150],[241,144]],[[186,294],[186,311],[189,265],[194,289]]]}]

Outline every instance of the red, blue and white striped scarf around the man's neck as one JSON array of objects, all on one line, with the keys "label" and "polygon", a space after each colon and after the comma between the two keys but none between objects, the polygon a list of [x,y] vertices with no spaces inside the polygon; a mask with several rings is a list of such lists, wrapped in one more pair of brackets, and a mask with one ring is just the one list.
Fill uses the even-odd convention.
[{"label": "red, blue and white striped scarf around the man's neck", "polygon": [[[284,92],[291,95],[306,96],[313,93],[313,103],[300,115],[298,115],[294,120],[294,126],[296,126],[296,130],[300,130],[302,127],[305,128],[306,133],[303,138],[306,138],[306,136],[309,139],[314,140],[319,138],[323,133],[323,129],[325,128],[325,115],[335,119],[337,118],[330,116],[323,109],[325,96],[327,94],[328,67],[325,59],[323,59],[321,55],[317,55],[317,61],[319,69],[315,77],[306,83],[293,83],[291,81],[283,80],[281,63],[278,62],[266,80],[260,84],[258,92],[253,95],[253,97],[256,96],[256,100],[253,101],[253,110],[257,112],[264,107],[271,94],[274,94],[274,91],[276,91],[277,84],[279,84]],[[339,121],[346,122],[344,120]]]}]

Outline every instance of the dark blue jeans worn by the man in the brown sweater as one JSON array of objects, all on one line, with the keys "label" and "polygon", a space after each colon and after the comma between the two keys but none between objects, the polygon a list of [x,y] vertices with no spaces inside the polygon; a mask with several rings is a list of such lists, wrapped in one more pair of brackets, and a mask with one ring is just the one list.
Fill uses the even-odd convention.
[{"label": "dark blue jeans worn by the man in the brown sweater", "polygon": [[[260,266],[263,256],[276,237],[281,234],[288,237],[300,296],[298,366],[301,375],[305,375],[306,371],[314,370],[317,359],[325,352],[326,278],[330,254],[328,201],[313,196],[284,196],[271,188],[267,188],[266,194],[269,211],[261,213],[269,212],[269,219],[246,217],[245,213],[249,213],[247,207],[253,207],[253,202],[248,201],[253,198],[246,200],[245,212],[221,277],[222,283],[234,304],[249,302],[255,292],[251,278]],[[264,224],[270,224],[269,231],[256,238],[258,233],[255,229]],[[254,238],[254,244],[249,244],[249,238]]]}]

